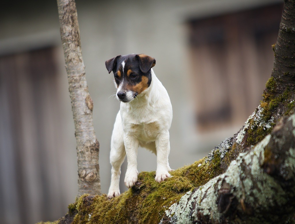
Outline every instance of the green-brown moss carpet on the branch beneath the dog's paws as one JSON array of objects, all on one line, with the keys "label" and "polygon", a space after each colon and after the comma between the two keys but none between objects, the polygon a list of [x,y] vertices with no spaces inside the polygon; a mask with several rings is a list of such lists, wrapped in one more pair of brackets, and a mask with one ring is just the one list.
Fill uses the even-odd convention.
[{"label": "green-brown moss carpet on the branch beneath the dog's paws", "polygon": [[178,202],[186,192],[219,175],[222,172],[220,163],[220,153],[217,150],[211,161],[206,163],[203,158],[172,171],[172,177],[161,183],[155,181],[155,171],[141,172],[136,187],[119,197],[108,199],[105,194],[83,195],[68,206],[67,215],[74,214],[73,223],[79,224],[159,223],[165,210]]}]

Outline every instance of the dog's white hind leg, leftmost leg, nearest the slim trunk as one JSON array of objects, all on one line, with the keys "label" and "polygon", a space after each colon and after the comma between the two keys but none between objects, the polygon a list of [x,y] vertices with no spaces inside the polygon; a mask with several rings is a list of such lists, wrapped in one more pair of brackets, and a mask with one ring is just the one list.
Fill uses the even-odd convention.
[{"label": "dog's white hind leg, leftmost leg, nearest the slim trunk", "polygon": [[111,141],[110,162],[112,164],[111,186],[108,197],[113,198],[120,195],[120,174],[121,166],[126,156],[124,147],[123,128],[121,123],[120,112],[117,115]]}]

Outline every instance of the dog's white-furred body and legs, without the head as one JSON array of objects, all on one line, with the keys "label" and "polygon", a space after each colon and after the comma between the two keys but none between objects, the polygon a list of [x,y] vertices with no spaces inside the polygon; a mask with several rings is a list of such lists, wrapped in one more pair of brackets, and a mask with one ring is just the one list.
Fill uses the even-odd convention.
[{"label": "dog's white-furred body and legs, without the head", "polygon": [[124,182],[128,188],[135,185],[138,175],[139,145],[157,155],[155,180],[161,182],[171,177],[168,173],[172,171],[168,163],[168,155],[172,106],[166,89],[155,76],[153,69],[151,73],[152,81],[145,91],[131,102],[121,102],[111,140],[112,179],[109,198],[120,195],[119,178],[126,155],[128,165]]}]

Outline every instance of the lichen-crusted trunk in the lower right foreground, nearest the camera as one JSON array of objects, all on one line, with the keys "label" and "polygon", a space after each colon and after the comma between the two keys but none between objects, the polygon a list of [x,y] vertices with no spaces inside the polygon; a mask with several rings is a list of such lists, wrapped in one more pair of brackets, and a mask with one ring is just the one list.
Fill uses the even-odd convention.
[{"label": "lichen-crusted trunk in the lower right foreground, nearest the camera", "polygon": [[161,223],[286,223],[295,212],[295,114],[227,171],[187,192]]}]

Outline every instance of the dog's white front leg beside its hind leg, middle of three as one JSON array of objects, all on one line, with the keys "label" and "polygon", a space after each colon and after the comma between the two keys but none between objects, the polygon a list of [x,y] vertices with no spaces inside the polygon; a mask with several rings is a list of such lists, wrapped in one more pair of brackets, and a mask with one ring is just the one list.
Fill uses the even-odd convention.
[{"label": "dog's white front leg beside its hind leg, middle of three", "polygon": [[137,151],[139,142],[137,138],[132,135],[124,136],[124,145],[127,155],[127,171],[125,175],[125,185],[130,188],[137,182]]}]

